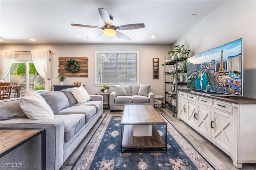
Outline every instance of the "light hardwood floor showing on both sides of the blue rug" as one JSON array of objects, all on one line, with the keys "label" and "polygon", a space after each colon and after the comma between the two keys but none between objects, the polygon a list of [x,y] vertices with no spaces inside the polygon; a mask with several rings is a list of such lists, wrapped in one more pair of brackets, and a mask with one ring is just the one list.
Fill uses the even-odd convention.
[{"label": "light hardwood floor showing on both sides of the blue rug", "polygon": [[[162,113],[168,121],[176,128],[183,136],[186,138],[194,148],[216,169],[216,170],[256,170],[256,164],[243,164],[242,168],[236,168],[232,164],[231,158],[214,146],[211,142],[206,140],[198,132],[190,128],[183,121],[179,121],[176,117],[173,117],[172,111],[166,108],[156,108],[158,113]],[[80,154],[84,150],[84,147],[89,142],[90,138],[94,134],[95,130],[98,128],[106,114],[109,113],[109,110],[104,110],[102,117],[90,130],[88,135],[82,140],[80,145],[76,148],[73,154],[68,158],[64,163],[62,170],[71,170],[73,165],[76,163],[76,160],[79,158]],[[118,112],[114,112],[118,113]]]}]

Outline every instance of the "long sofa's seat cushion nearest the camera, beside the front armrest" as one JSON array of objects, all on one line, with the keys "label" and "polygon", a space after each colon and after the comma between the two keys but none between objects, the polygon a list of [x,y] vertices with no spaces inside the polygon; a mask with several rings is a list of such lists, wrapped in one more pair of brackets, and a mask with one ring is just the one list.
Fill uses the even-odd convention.
[{"label": "long sofa's seat cushion nearest the camera, beside the front armrest", "polygon": [[54,115],[54,119],[64,121],[64,142],[68,142],[85,124],[85,116],[83,114]]}]

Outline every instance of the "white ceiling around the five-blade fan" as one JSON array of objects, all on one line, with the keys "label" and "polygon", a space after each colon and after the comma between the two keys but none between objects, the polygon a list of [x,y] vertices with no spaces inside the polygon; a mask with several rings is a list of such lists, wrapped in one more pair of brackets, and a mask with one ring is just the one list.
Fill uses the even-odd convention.
[{"label": "white ceiling around the five-blade fan", "polygon": [[[172,44],[223,0],[0,0],[0,43],[143,43]],[[70,24],[104,26],[98,8],[113,16],[115,26],[144,23],[120,31],[127,42],[102,30]],[[190,14],[197,14],[190,16]],[[80,35],[82,38],[77,38]],[[152,39],[151,36],[156,36]],[[35,39],[36,41],[31,41]]]}]

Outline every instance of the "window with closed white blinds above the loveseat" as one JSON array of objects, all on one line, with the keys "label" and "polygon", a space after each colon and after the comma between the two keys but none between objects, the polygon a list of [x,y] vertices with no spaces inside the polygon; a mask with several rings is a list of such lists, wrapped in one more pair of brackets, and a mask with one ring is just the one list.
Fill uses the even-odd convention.
[{"label": "window with closed white blinds above the loveseat", "polygon": [[138,52],[96,52],[96,83],[137,84]]}]

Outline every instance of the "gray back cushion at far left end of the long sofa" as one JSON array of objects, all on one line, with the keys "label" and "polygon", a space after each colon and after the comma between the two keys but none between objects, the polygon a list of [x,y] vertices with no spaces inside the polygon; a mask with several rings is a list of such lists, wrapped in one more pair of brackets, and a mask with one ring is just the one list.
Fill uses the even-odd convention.
[{"label": "gray back cushion at far left end of the long sofa", "polygon": [[20,98],[0,100],[0,120],[28,118],[20,109]]}]

